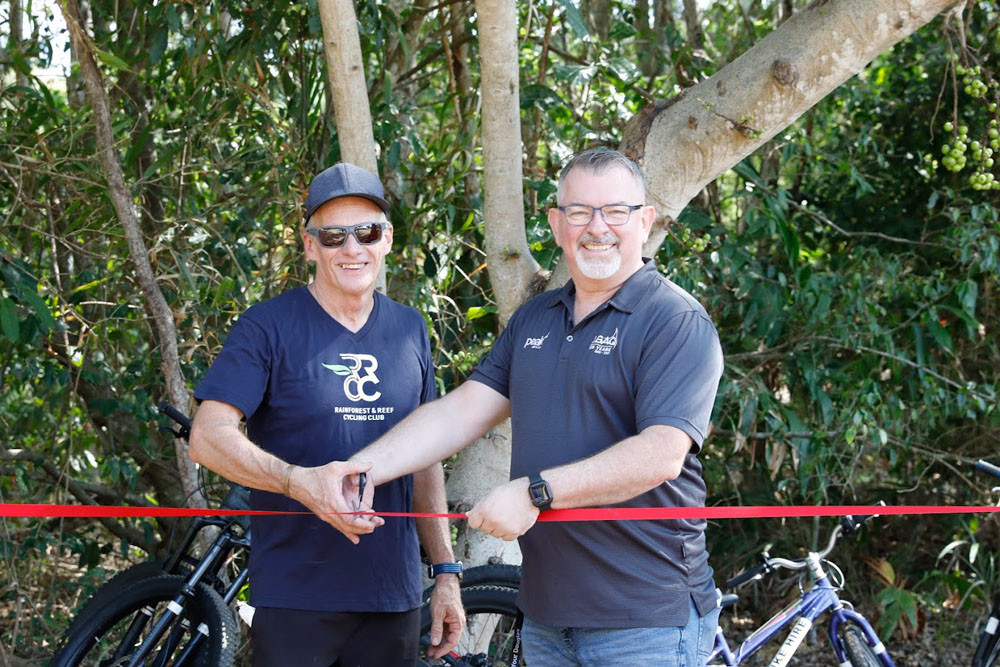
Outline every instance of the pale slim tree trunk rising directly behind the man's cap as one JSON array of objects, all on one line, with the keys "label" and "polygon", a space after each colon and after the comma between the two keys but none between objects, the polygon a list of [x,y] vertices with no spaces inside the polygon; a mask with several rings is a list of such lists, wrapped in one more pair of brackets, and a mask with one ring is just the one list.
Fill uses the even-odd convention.
[{"label": "pale slim tree trunk rising directly behind the man's cap", "polygon": [[[340,159],[378,174],[378,152],[354,3],[351,0],[319,0],[319,16],[323,24],[323,50],[337,121]],[[385,292],[384,264],[375,287]]]}]

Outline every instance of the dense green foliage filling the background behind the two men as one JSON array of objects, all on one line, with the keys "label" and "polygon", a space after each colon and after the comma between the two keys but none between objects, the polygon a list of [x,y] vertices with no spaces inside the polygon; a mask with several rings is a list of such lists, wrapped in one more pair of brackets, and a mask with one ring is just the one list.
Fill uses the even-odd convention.
[{"label": "dense green foliage filling the background behind the two men", "polygon": [[[642,3],[611,2],[606,16],[568,0],[518,3],[525,198],[510,205],[523,205],[542,268],[560,259],[546,210],[565,158],[618,145],[640,109],[731,62],[785,4],[717,0],[689,34],[679,13],[641,16]],[[498,330],[474,4],[356,9],[394,204],[388,290],[425,313],[443,392]],[[62,46],[32,11],[26,38],[0,52],[0,500],[180,504],[173,443],[155,430],[161,352],[94,158],[91,109],[75,73],[39,75]],[[247,306],[308,280],[302,202],[340,154],[318,10],[95,0],[89,11],[118,157],[193,388]],[[995,172],[997,17],[994,0],[975,3],[961,27],[939,19],[878,57],[672,226],[656,259],[706,305],[726,352],[701,455],[710,502],[892,501],[904,490],[914,502],[978,500],[957,481],[969,460],[995,455],[1000,431],[1000,217],[982,176]],[[752,111],[735,122],[760,131]],[[30,564],[17,569],[22,591],[56,565],[162,550],[173,525],[49,528],[3,526],[5,563]],[[710,531],[720,574],[772,528]],[[787,523],[775,552],[815,530]],[[940,536],[956,531],[948,519],[885,520],[859,551],[890,559],[895,583],[855,563],[848,579],[887,616],[898,610],[899,626],[911,603],[933,601],[934,582],[946,595],[983,587],[982,553],[937,570]],[[26,604],[2,595],[8,610]],[[50,641],[68,610],[42,606],[31,637]],[[33,645],[26,637],[2,639]]]}]

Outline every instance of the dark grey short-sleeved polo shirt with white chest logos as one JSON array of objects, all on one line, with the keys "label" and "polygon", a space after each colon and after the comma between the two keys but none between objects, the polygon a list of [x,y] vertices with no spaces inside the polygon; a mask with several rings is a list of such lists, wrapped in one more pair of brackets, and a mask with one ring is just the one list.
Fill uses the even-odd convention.
[{"label": "dark grey short-sleeved polo shirt with white chest logos", "polygon": [[[680,476],[617,507],[704,506],[696,454],[722,375],[705,309],[650,260],[576,326],[574,294],[571,282],[524,304],[472,374],[510,399],[511,479],[665,424],[695,443]],[[518,606],[554,626],[684,625],[689,600],[702,615],[716,605],[705,524],[535,524],[520,538]]]}]

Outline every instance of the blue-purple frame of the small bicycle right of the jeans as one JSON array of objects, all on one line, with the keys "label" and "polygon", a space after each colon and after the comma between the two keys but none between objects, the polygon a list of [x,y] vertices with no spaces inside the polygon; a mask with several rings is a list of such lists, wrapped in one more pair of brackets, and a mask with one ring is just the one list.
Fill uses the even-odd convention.
[{"label": "blue-purple frame of the small bicycle right of the jeans", "polygon": [[725,633],[719,627],[716,630],[715,647],[709,655],[709,662],[721,658],[726,665],[739,665],[760,650],[775,635],[789,625],[792,625],[791,632],[788,633],[788,637],[770,663],[770,667],[785,667],[792,659],[795,651],[798,650],[799,645],[805,639],[810,628],[815,624],[816,619],[827,611],[832,610],[829,626],[830,643],[840,664],[847,664],[847,653],[844,650],[839,629],[841,623],[850,620],[856,623],[864,632],[868,644],[872,647],[872,650],[882,664],[885,667],[895,667],[895,663],[889,657],[885,646],[878,638],[878,635],[875,634],[875,630],[872,629],[871,624],[861,614],[844,607],[840,597],[837,595],[837,589],[834,588],[830,579],[823,571],[819,555],[810,553],[807,556],[807,560],[809,570],[813,575],[813,587],[803,592],[797,600],[772,616],[764,625],[747,637],[737,647],[735,652],[729,648]]}]

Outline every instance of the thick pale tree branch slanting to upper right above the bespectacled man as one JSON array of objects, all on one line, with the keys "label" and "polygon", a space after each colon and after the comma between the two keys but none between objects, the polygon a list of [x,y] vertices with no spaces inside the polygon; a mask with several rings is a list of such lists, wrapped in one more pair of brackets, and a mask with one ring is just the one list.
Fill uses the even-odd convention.
[{"label": "thick pale tree branch slanting to upper right above the bespectacled man", "polygon": [[[650,203],[676,218],[707,183],[956,1],[826,0],[797,12],[651,122],[626,128],[621,146],[644,167]],[[720,115],[747,118],[759,133]],[[645,253],[664,238],[655,230]]]}]

